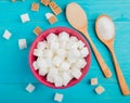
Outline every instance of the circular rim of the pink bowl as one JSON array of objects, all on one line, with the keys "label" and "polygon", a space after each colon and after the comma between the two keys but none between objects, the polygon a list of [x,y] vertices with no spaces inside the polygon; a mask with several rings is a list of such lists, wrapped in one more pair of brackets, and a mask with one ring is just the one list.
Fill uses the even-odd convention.
[{"label": "circular rim of the pink bowl", "polygon": [[[72,85],[67,85],[67,86],[63,86],[63,87],[55,87],[54,85],[53,86],[51,86],[51,85],[48,85],[48,82],[49,81],[43,81],[43,80],[41,80],[40,78],[39,78],[39,74],[36,74],[36,70],[34,69],[34,66],[32,66],[32,62],[30,61],[31,60],[31,55],[32,55],[32,51],[34,51],[34,44],[35,43],[38,43],[37,42],[37,40],[40,38],[40,37],[42,37],[42,35],[44,35],[44,34],[47,34],[48,31],[50,31],[50,30],[53,30],[53,29],[65,29],[65,30],[63,30],[63,31],[66,31],[66,30],[70,30],[72,33],[75,33],[75,34],[77,34],[77,35],[75,35],[76,37],[80,37],[82,40],[83,40],[83,43],[86,43],[86,46],[87,46],[87,48],[89,49],[89,64],[87,64],[87,68],[86,68],[86,72],[83,72],[82,73],[82,76],[79,78],[79,79],[77,79],[76,80],[76,82],[74,82],[74,83],[72,83]],[[39,41],[39,40],[38,40]],[[87,56],[87,57],[88,57]],[[30,49],[29,49],[29,56],[28,56],[28,61],[29,61],[29,67],[30,67],[30,70],[32,72],[32,75],[37,78],[37,80],[38,81],[40,81],[42,85],[44,85],[44,86],[47,86],[47,87],[50,87],[50,88],[53,88],[53,89],[66,89],[66,88],[69,88],[69,87],[73,87],[73,86],[75,86],[75,85],[77,85],[78,82],[80,82],[83,78],[84,78],[84,76],[87,75],[87,73],[88,73],[88,70],[89,70],[89,68],[90,68],[90,66],[91,66],[91,49],[90,49],[90,47],[89,47],[89,43],[88,43],[88,41],[87,41],[87,39],[80,34],[80,33],[78,33],[78,31],[76,31],[75,29],[73,29],[73,28],[68,28],[68,27],[64,27],[64,26],[56,26],[56,27],[52,27],[52,28],[48,28],[47,30],[44,30],[44,31],[42,31],[38,37],[36,37],[36,39],[32,41],[32,43],[31,43],[31,47],[30,47]],[[87,61],[88,62],[88,61]],[[83,69],[83,68],[82,68]]]}]

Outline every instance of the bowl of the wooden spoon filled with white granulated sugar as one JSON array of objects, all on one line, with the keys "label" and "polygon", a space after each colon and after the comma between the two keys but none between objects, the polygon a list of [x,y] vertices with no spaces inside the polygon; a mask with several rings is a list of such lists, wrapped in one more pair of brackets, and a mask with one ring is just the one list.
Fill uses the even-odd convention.
[{"label": "bowl of the wooden spoon filled with white granulated sugar", "polygon": [[[106,21],[108,24],[101,23],[103,21]],[[104,25],[105,25],[105,27],[104,27]],[[108,26],[112,26],[112,27],[108,28]],[[104,27],[104,30],[102,29],[103,27]],[[110,28],[113,28],[113,30],[110,30]],[[98,20],[96,20],[96,23],[95,23],[95,30],[96,30],[99,39],[103,43],[105,43],[106,46],[109,44],[109,43],[110,44],[114,43],[114,40],[115,40],[115,25],[114,25],[114,23],[113,23],[113,21],[109,16],[107,16],[107,15],[99,16]],[[105,31],[107,31],[107,33],[105,34]]]}]

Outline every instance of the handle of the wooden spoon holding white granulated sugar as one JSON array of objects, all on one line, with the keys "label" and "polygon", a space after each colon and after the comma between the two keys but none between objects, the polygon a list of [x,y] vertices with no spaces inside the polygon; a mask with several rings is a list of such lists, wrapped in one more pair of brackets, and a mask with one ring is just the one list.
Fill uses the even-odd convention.
[{"label": "handle of the wooden spoon holding white granulated sugar", "polygon": [[128,94],[130,94],[130,91],[129,91],[129,88],[128,88],[127,82],[125,80],[125,77],[123,77],[123,75],[121,73],[121,69],[120,69],[120,67],[118,65],[114,49],[109,48],[109,50],[110,50],[110,53],[112,53],[112,56],[113,56],[113,60],[114,60],[115,69],[116,69],[118,82],[119,82],[119,86],[120,86],[120,90],[121,90],[123,95],[128,95]]}]

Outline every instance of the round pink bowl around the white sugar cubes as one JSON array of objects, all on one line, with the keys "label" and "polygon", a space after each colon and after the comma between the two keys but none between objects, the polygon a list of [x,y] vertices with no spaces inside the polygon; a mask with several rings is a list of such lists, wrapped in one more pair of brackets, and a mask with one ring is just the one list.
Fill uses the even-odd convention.
[{"label": "round pink bowl around the white sugar cubes", "polygon": [[54,89],[64,89],[64,88],[68,88],[72,87],[76,83],[78,83],[87,74],[89,67],[90,67],[90,63],[91,63],[91,53],[90,53],[90,48],[89,48],[89,55],[86,57],[87,61],[87,66],[84,68],[82,68],[82,75],[81,77],[77,80],[77,79],[73,79],[66,87],[55,87],[53,83],[47,81],[46,77],[42,77],[38,74],[38,70],[35,70],[34,66],[32,66],[32,62],[37,59],[36,56],[32,55],[34,49],[36,48],[37,43],[41,40],[44,40],[47,38],[47,36],[50,33],[54,33],[54,34],[58,34],[61,31],[66,31],[68,33],[70,36],[75,36],[77,37],[79,40],[82,40],[86,44],[86,47],[89,48],[89,44],[87,43],[87,40],[76,30],[73,30],[70,28],[66,28],[66,27],[54,27],[54,28],[50,28],[46,31],[43,31],[41,35],[39,35],[36,40],[32,42],[32,46],[30,48],[29,51],[29,65],[30,65],[30,69],[32,72],[32,74],[35,75],[35,77],[43,85],[54,88]]}]

